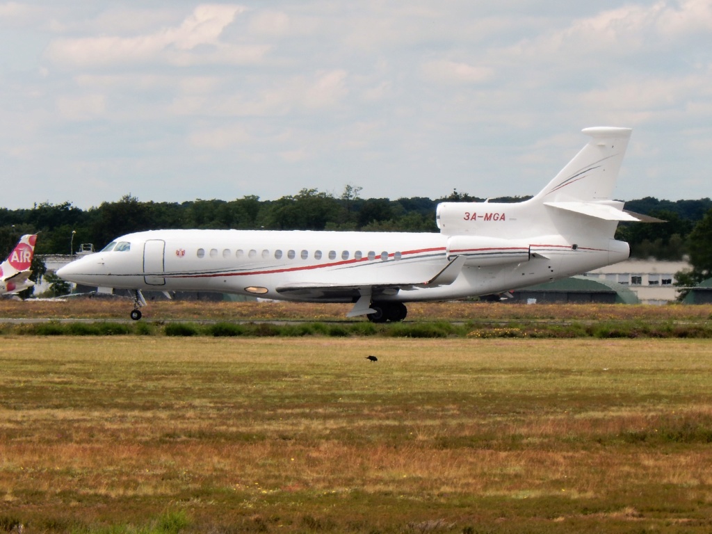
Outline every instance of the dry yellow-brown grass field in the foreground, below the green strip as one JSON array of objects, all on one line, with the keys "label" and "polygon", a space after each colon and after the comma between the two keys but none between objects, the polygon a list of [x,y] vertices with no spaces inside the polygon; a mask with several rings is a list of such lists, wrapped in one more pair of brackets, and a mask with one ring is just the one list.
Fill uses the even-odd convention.
[{"label": "dry yellow-brown grass field in the foreground, below the green strip", "polygon": [[0,341],[0,531],[712,530],[705,340]]}]

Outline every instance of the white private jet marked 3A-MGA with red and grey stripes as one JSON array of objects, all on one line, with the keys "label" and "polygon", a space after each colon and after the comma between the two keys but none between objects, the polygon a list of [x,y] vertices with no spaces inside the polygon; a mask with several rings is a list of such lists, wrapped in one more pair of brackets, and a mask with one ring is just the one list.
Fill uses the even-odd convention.
[{"label": "white private jet marked 3A-MGA with red and grey stripes", "polygon": [[444,202],[439,234],[155,230],[117,238],[59,269],[70,282],[133,291],[216,291],[353,303],[348,316],[400,321],[404,303],[504,293],[622,261],[612,192],[631,130],[586,128],[585,147],[527,201]]}]

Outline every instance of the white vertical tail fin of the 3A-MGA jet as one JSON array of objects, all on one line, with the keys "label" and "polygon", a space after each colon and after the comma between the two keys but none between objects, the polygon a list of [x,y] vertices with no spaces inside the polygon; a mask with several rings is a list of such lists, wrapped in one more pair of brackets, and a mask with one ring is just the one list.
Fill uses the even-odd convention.
[{"label": "white vertical tail fin of the 3A-MGA jet", "polygon": [[582,132],[592,139],[534,197],[535,200],[545,203],[572,203],[606,201],[612,198],[632,130],[592,127],[585,128]]}]

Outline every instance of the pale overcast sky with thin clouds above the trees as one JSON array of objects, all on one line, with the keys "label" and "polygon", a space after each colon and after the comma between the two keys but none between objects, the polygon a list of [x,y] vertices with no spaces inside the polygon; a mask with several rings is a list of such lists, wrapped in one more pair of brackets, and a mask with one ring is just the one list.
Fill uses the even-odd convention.
[{"label": "pale overcast sky with thin clouds above the trees", "polygon": [[600,125],[618,199],[712,196],[709,0],[11,1],[0,46],[10,209],[535,194]]}]

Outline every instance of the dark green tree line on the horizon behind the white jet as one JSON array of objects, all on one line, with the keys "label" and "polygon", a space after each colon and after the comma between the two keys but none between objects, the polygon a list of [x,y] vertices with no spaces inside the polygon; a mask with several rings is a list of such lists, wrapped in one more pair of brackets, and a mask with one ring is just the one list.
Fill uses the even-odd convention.
[{"label": "dark green tree line on the horizon behind the white jet", "polygon": [[[19,236],[38,232],[38,255],[69,254],[83,243],[102,248],[122,234],[167,228],[436,232],[435,209],[439,202],[484,200],[456,190],[439,199],[396,200],[362,199],[360,192],[360,187],[347,185],[340,195],[301,189],[277,200],[246,196],[231,201],[197,199],[181,203],[140,201],[127,194],[119,201],[103,202],[90,209],[80,209],[70,202],[43,202],[31,209],[0,208],[0,252],[5,258]],[[501,197],[491,201],[527,198]],[[693,259],[712,249],[709,198],[667,201],[645,197],[627,201],[625,208],[665,221],[619,224],[616,237],[631,244],[633,257],[679,260],[688,255]],[[705,246],[698,246],[700,243]],[[712,259],[705,267],[708,268],[712,268]],[[698,276],[703,276],[702,271]]]}]

